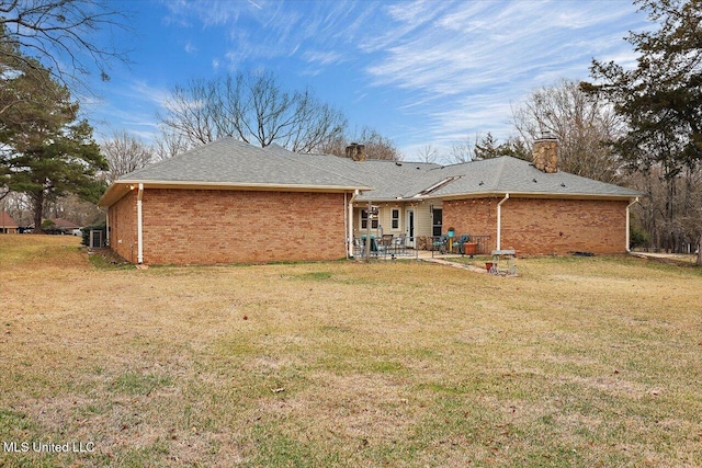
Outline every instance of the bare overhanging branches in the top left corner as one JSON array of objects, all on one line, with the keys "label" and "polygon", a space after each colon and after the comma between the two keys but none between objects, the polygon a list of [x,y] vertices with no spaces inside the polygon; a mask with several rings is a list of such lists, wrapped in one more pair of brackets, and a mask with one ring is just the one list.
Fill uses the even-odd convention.
[{"label": "bare overhanging branches in the top left corner", "polygon": [[[124,13],[103,0],[0,0],[0,64],[14,64],[25,73],[39,71],[37,58],[52,79],[73,93],[89,90],[86,77],[97,68],[103,81],[115,59],[127,62],[125,52],[99,44],[95,33],[126,30]],[[18,52],[23,54],[18,54]],[[41,77],[41,73],[37,73]]]}]

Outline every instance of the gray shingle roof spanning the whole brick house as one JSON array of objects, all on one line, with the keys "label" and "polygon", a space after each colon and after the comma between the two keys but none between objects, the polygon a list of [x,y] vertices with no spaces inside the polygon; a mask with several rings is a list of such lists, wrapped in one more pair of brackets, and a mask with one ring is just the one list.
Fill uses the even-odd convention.
[{"label": "gray shingle roof spanning the whole brick house", "polygon": [[[407,161],[355,162],[336,156],[294,153],[275,145],[259,148],[235,138],[223,138],[139,169],[116,184],[134,182],[358,189],[363,191],[359,201],[378,202],[506,193],[614,198],[643,195],[567,172],[547,174],[509,156],[446,167]],[[109,199],[107,193],[103,199]]]}]

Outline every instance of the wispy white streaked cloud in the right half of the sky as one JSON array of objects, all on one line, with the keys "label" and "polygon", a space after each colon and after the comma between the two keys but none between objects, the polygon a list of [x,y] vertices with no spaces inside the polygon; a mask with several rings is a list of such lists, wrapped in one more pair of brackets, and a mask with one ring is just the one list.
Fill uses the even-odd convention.
[{"label": "wispy white streaked cloud in the right half of the sky", "polygon": [[625,2],[444,4],[392,7],[393,22],[360,46],[377,53],[366,67],[370,83],[408,96],[398,110],[423,123],[423,145],[476,132],[506,138],[511,105],[532,89],[561,78],[587,79],[593,57],[631,64],[622,31],[643,21]]}]

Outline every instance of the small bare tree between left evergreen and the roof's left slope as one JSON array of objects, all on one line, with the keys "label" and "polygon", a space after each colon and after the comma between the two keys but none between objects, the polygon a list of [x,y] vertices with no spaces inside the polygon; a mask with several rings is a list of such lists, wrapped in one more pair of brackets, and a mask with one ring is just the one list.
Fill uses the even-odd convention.
[{"label": "small bare tree between left evergreen and the roof's left slope", "polygon": [[110,183],[151,162],[151,148],[125,130],[115,132],[112,138],[101,145],[101,149],[110,164]]}]

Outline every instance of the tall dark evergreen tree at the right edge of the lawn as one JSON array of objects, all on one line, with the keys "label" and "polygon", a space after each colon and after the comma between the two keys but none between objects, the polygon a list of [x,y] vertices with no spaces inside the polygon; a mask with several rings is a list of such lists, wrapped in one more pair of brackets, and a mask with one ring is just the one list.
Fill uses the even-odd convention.
[{"label": "tall dark evergreen tree at the right edge of the lawn", "polygon": [[[675,246],[676,179],[702,161],[702,2],[636,3],[660,25],[629,34],[626,41],[638,53],[636,68],[595,60],[591,75],[597,82],[581,88],[605,96],[624,117],[629,130],[613,148],[630,168],[661,170],[668,186],[665,222]],[[697,237],[702,264],[702,219]]]}]

